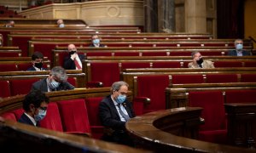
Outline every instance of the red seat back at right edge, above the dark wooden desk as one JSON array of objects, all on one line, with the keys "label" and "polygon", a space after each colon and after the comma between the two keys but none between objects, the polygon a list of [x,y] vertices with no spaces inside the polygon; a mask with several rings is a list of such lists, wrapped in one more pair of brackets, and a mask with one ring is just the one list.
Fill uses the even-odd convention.
[{"label": "red seat back at right edge, above the dark wooden desk", "polygon": [[226,103],[255,103],[256,90],[228,90],[225,92]]}]

